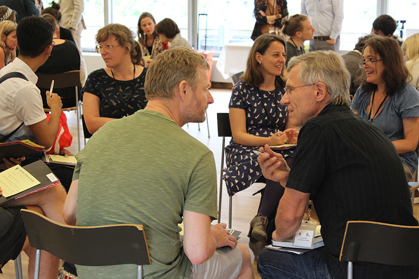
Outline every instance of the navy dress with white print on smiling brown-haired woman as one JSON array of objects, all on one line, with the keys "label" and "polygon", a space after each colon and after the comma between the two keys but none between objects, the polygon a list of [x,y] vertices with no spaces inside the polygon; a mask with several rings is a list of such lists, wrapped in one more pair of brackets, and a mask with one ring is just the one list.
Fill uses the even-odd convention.
[{"label": "navy dress with white print on smiling brown-haired woman", "polygon": [[[239,80],[233,87],[229,108],[244,109],[247,133],[255,136],[270,137],[273,133],[285,130],[288,119],[286,106],[280,104],[285,93],[283,88],[263,91]],[[237,144],[232,138],[225,148],[227,170],[223,179],[230,196],[244,190],[262,176],[257,156],[253,153],[259,147]],[[284,157],[294,156],[295,148],[281,150]]]}]

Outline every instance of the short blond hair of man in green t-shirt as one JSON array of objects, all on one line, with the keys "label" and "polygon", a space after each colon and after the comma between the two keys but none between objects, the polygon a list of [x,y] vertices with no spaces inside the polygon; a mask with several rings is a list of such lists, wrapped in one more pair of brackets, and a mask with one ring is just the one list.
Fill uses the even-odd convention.
[{"label": "short blond hair of man in green t-shirt", "polygon": [[193,50],[176,47],[160,53],[147,70],[144,83],[147,100],[173,97],[175,87],[185,80],[194,90],[200,74],[200,67],[209,70],[210,66],[203,55]]}]

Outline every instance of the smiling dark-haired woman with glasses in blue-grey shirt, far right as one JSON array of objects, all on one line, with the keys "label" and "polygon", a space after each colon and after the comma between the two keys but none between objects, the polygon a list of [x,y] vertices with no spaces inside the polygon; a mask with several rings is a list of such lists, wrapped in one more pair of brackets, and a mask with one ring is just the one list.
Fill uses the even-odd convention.
[{"label": "smiling dark-haired woman with glasses in blue-grey shirt, far right", "polygon": [[418,168],[419,93],[407,82],[410,74],[396,40],[375,36],[366,41],[362,55],[364,81],[351,109],[394,144],[409,181]]}]

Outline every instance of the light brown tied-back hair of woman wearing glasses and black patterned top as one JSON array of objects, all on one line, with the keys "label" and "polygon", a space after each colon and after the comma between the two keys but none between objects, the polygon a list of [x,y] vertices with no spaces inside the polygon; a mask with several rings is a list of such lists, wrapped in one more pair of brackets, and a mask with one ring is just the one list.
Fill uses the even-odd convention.
[{"label": "light brown tied-back hair of woman wearing glasses and black patterned top", "polygon": [[111,23],[105,27],[99,29],[96,34],[96,43],[107,40],[110,36],[115,36],[120,46],[127,47],[128,44],[131,46],[131,62],[135,65],[144,66],[144,60],[142,59],[142,50],[140,43],[134,40],[133,33],[125,25],[118,23]]}]

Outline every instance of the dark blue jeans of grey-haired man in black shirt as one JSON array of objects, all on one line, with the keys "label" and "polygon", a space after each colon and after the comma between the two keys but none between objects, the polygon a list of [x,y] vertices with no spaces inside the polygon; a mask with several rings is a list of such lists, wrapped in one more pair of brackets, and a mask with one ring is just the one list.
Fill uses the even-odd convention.
[{"label": "dark blue jeans of grey-haired man in black shirt", "polygon": [[262,279],[333,279],[318,249],[297,255],[264,248],[257,271]]}]

